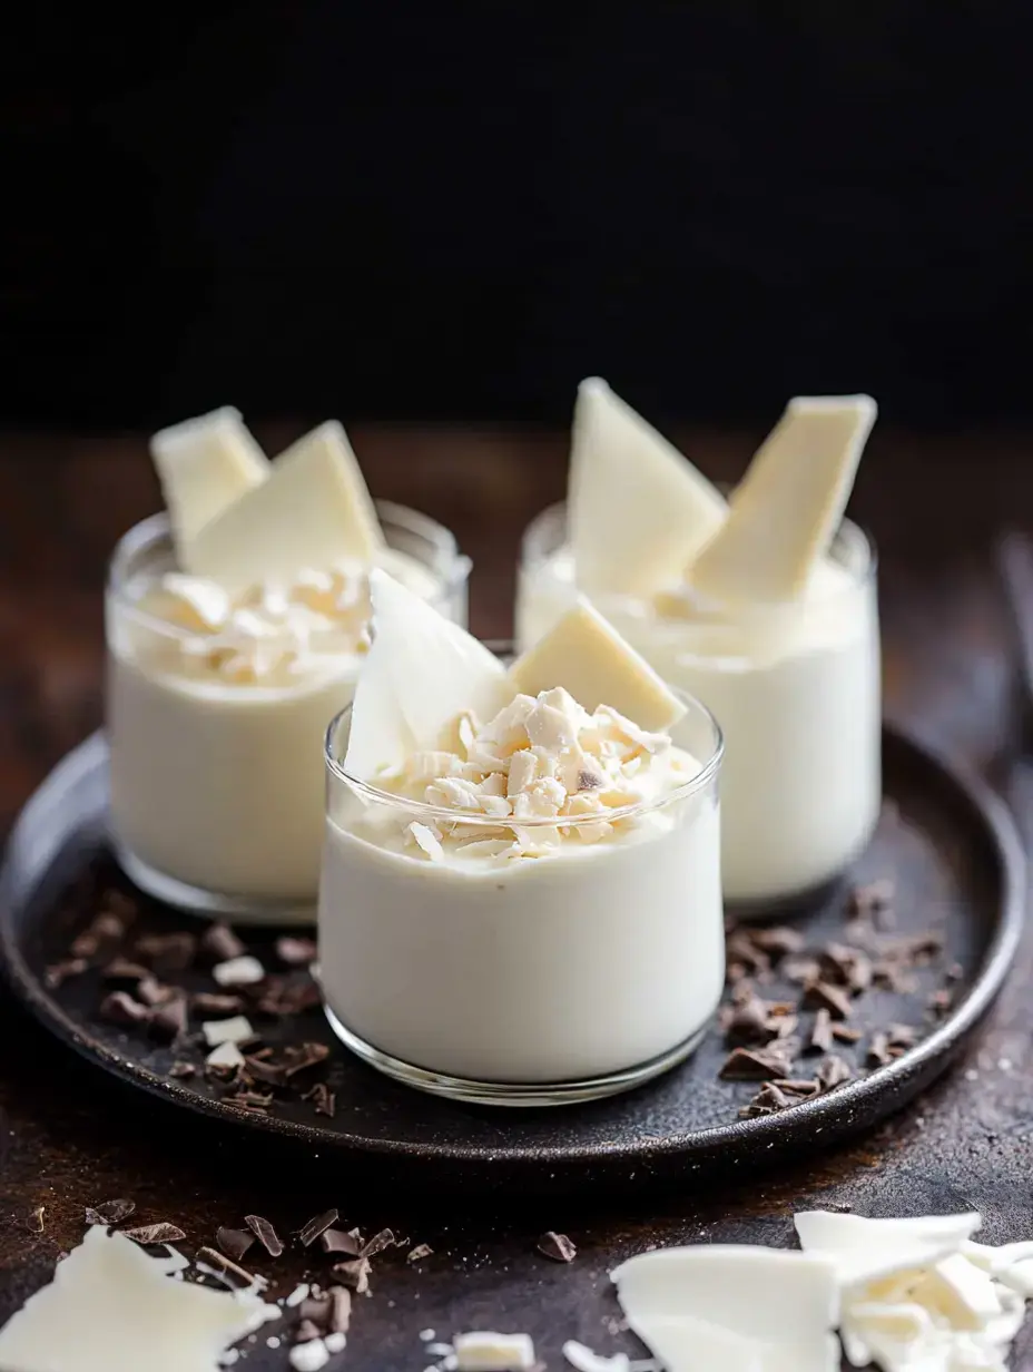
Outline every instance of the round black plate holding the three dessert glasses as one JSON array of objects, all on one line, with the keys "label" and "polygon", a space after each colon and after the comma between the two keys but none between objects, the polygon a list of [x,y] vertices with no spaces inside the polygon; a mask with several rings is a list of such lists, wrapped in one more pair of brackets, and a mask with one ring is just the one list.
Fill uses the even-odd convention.
[{"label": "round black plate holding the three dessert glasses", "polygon": [[[300,1093],[277,1102],[269,1114],[247,1114],[221,1099],[225,1087],[203,1073],[170,1080],[169,1067],[182,1052],[99,1018],[99,971],[58,988],[48,988],[45,977],[96,912],[103,899],[97,889],[114,885],[132,892],[106,849],[107,756],[99,735],[51,774],[12,831],[0,877],[0,952],[29,1010],[97,1066],[170,1104],[232,1121],[239,1129],[278,1135],[324,1157],[337,1150],[353,1165],[379,1162],[399,1184],[416,1179],[423,1187],[569,1190],[755,1169],[783,1154],[824,1147],[915,1096],[975,1029],[1015,952],[1025,863],[1003,804],[981,782],[889,727],[883,768],[883,814],[849,881],[892,878],[893,936],[933,929],[942,938],[942,958],[916,970],[908,989],[875,989],[859,997],[851,1022],[864,1036],[856,1047],[837,1045],[856,1080],[759,1118],[738,1117],[759,1084],[719,1078],[728,1050],[717,1028],[691,1061],[668,1076],[624,1096],[554,1110],[462,1106],[396,1085],[340,1048],[318,1010],[276,1021],[263,1039],[276,1048],[313,1040],[331,1048],[321,1070],[336,1096],[332,1118],[316,1114]],[[92,884],[84,884],[84,868],[93,871]],[[139,907],[133,937],[202,927],[139,893],[133,899]],[[848,892],[840,888],[793,912],[792,922],[808,943],[820,945],[845,937],[846,911]],[[268,967],[274,965],[276,934],[266,929],[246,936]],[[214,989],[203,971],[178,980],[189,989]],[[774,1000],[800,993],[778,977],[761,989]],[[937,992],[938,1017],[930,1010]],[[916,1025],[923,1037],[864,1074],[871,1034],[893,1022]],[[195,1061],[200,1061],[196,1052]],[[814,1059],[797,1066],[801,1074],[812,1070]]]}]

